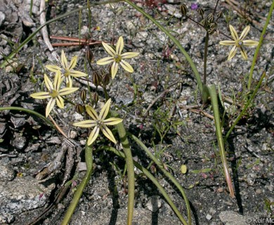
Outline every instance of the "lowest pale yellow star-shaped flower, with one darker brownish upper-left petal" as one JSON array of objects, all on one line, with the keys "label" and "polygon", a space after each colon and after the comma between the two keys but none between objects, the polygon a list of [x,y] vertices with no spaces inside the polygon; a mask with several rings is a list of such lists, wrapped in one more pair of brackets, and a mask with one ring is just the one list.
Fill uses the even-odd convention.
[{"label": "lowest pale yellow star-shaped flower, with one darker brownish upper-left petal", "polygon": [[105,103],[102,110],[100,111],[100,115],[98,115],[96,113],[96,110],[94,110],[91,106],[86,105],[86,113],[88,113],[93,120],[84,120],[81,122],[75,122],[73,124],[77,127],[94,127],[91,131],[91,134],[89,135],[88,146],[90,146],[97,139],[100,130],[107,137],[107,139],[110,139],[110,141],[112,141],[113,143],[117,143],[115,137],[112,134],[112,131],[110,131],[110,129],[107,128],[107,125],[119,124],[123,121],[123,119],[112,117],[105,120],[105,117],[107,117],[107,114],[110,110],[110,102],[111,99],[109,99]]}]

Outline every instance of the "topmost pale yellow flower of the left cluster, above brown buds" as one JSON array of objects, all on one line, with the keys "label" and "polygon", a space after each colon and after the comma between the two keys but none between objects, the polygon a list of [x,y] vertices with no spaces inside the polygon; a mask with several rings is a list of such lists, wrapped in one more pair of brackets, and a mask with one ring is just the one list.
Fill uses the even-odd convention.
[{"label": "topmost pale yellow flower of the left cluster, above brown buds", "polygon": [[97,64],[98,65],[106,65],[108,63],[113,62],[112,67],[111,67],[112,79],[114,79],[115,75],[117,74],[119,64],[127,72],[134,71],[133,68],[131,67],[131,65],[129,63],[127,63],[124,59],[125,58],[133,58],[135,56],[138,56],[139,53],[138,52],[122,53],[122,50],[124,49],[123,37],[119,37],[119,39],[117,41],[117,45],[116,45],[116,51],[114,51],[114,49],[112,49],[112,47],[109,46],[108,44],[106,44],[105,42],[102,42],[102,44],[103,44],[105,51],[107,51],[107,53],[109,53],[111,57],[102,58],[97,61]]}]

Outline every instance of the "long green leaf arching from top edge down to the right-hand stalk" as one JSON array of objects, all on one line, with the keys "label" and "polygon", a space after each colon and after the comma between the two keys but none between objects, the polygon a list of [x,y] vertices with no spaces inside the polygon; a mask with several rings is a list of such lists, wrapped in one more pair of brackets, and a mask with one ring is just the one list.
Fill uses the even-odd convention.
[{"label": "long green leaf arching from top edge down to the right-hand stalk", "polygon": [[195,66],[195,64],[193,63],[193,60],[190,58],[190,56],[188,55],[188,53],[185,51],[185,49],[183,49],[183,46],[181,46],[180,42],[166,29],[164,28],[162,25],[160,25],[154,18],[152,18],[152,16],[148,15],[148,13],[145,13],[145,11],[143,11],[143,9],[139,8],[138,6],[136,6],[136,4],[133,4],[133,2],[131,2],[131,0],[124,0],[126,1],[127,4],[131,5],[133,8],[135,8],[137,11],[139,11],[140,13],[142,13],[143,15],[145,15],[146,18],[148,18],[149,20],[152,21],[152,23],[155,23],[155,25],[157,25],[157,27],[159,27],[160,30],[162,30],[162,32],[164,32],[165,34],[167,34],[167,36],[169,36],[169,38],[174,41],[174,44],[176,44],[176,46],[178,47],[178,49],[180,49],[181,53],[183,53],[183,55],[185,56],[186,60],[188,60],[188,63],[190,64],[190,67],[193,69],[200,93],[202,94],[202,80],[200,77],[200,74]]}]

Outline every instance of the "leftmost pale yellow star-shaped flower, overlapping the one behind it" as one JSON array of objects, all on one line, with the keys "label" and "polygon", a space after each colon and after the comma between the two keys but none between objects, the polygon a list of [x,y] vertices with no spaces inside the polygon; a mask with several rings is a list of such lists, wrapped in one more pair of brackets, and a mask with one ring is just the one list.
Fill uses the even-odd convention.
[{"label": "leftmost pale yellow star-shaped flower, overlapping the one behind it", "polygon": [[32,98],[37,99],[46,99],[51,98],[48,101],[48,105],[46,105],[46,117],[48,117],[49,113],[53,109],[54,105],[57,103],[59,108],[64,108],[64,99],[61,96],[65,96],[67,94],[72,94],[74,91],[77,91],[78,88],[66,87],[65,89],[60,89],[61,82],[63,79],[61,78],[60,70],[56,72],[56,77],[54,78],[54,82],[52,84],[51,80],[48,79],[48,76],[44,75],[44,81],[46,84],[46,88],[48,92],[42,91],[31,94]]}]

